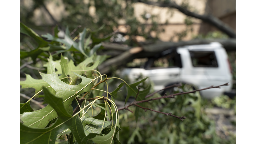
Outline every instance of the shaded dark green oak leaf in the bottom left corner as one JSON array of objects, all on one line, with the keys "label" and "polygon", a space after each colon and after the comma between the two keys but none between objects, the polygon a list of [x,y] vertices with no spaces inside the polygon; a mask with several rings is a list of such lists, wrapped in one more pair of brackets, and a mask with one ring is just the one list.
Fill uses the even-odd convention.
[{"label": "shaded dark green oak leaf in the bottom left corner", "polygon": [[44,89],[45,101],[51,105],[58,113],[58,120],[49,128],[35,129],[20,124],[20,143],[21,144],[54,144],[57,135],[69,128],[79,144],[86,144],[88,139],[83,131],[83,125],[78,115],[72,116],[66,111],[62,103],[62,98],[53,96],[46,88]]}]

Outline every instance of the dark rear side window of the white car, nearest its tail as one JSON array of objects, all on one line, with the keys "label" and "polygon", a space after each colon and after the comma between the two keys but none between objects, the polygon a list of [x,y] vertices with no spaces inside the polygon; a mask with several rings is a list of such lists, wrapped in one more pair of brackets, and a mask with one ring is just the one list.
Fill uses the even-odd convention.
[{"label": "dark rear side window of the white car, nearest its tail", "polygon": [[194,67],[218,67],[214,51],[189,51]]}]

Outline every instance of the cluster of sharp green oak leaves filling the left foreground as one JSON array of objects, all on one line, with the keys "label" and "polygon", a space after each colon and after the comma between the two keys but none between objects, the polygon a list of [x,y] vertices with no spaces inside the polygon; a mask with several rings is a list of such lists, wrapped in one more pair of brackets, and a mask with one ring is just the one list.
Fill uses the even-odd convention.
[{"label": "cluster of sharp green oak leaves filling the left foreground", "polygon": [[[35,39],[38,45],[34,50],[21,51],[20,58],[31,57],[34,63],[37,62],[37,58],[48,61],[44,64],[47,69],[46,74],[39,72],[42,79],[34,79],[26,74],[26,80],[20,82],[22,88],[35,89],[33,97],[43,91],[44,101],[48,103],[46,107],[36,111],[30,106],[30,100],[33,97],[26,103],[20,104],[20,142],[55,143],[62,139],[62,135],[67,135],[69,143],[120,143],[119,114],[114,103],[118,97],[118,91],[126,85],[129,96],[138,96],[137,101],[143,100],[149,93],[150,85],[147,89],[140,91],[140,94],[136,86],[147,78],[130,85],[124,81],[111,93],[108,92],[108,86],[107,91],[104,91],[102,84],[108,85],[106,81],[115,77],[107,78],[106,75],[101,75],[95,70],[106,57],[95,55],[96,50],[100,48],[100,44],[97,44],[100,42],[99,39],[92,39],[92,44],[89,46],[88,41],[93,32],[84,41],[86,35],[86,29],[84,29],[80,33],[80,40],[75,42],[70,38],[67,28],[64,39],[47,34],[43,35],[47,38],[48,41],[46,41],[26,25],[21,23],[20,26],[21,33]],[[45,52],[49,52],[49,55]],[[56,60],[53,58],[54,55]],[[56,58],[58,55],[59,60]],[[74,64],[72,59],[75,58],[72,55],[81,56],[80,61],[75,61],[77,65]],[[103,79],[103,77],[106,78]],[[96,86],[101,89],[96,89]],[[102,96],[103,94],[99,91],[107,93],[107,96]],[[72,107],[72,102],[78,102],[78,100],[79,102],[84,100],[84,102],[81,107],[77,106],[80,110],[73,113],[75,107]],[[96,108],[101,109],[100,113],[93,116],[93,110],[95,111]],[[87,114],[90,110],[92,116]],[[136,110],[136,120],[140,117],[138,114],[139,110]]]}]

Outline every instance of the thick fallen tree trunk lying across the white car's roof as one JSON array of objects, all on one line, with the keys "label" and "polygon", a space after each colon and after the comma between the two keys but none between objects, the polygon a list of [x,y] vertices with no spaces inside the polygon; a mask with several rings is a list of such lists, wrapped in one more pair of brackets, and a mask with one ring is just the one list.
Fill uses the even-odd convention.
[{"label": "thick fallen tree trunk lying across the white car's roof", "polygon": [[[160,54],[162,51],[165,51],[170,48],[185,46],[185,45],[198,45],[198,44],[209,44],[211,42],[219,42],[223,45],[223,47],[227,51],[235,51],[236,50],[236,39],[200,39],[200,40],[191,40],[191,41],[181,41],[181,42],[157,42],[155,44],[142,45],[142,47],[133,47],[124,51],[120,55],[110,58],[103,62],[100,66],[98,66],[101,74],[109,74],[111,71],[111,67],[120,67],[135,58],[145,58],[145,57],[153,57],[157,54]],[[103,42],[103,45],[106,43]],[[142,43],[141,43],[142,44]],[[111,48],[113,45],[114,48]],[[120,45],[120,48],[118,48]],[[107,43],[107,49],[118,49],[124,50],[124,45],[115,44],[115,43]]]}]

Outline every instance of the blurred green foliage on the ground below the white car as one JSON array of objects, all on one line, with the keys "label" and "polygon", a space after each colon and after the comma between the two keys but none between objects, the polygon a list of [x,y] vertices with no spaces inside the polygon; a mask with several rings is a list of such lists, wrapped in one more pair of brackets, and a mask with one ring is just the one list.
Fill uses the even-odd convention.
[{"label": "blurred green foliage on the ground below the white car", "polygon": [[[182,87],[183,91],[184,85]],[[191,89],[190,89],[191,90]],[[177,92],[176,92],[177,93]],[[155,94],[153,97],[159,97]],[[226,102],[226,101],[225,101]],[[176,96],[175,99],[164,99],[146,103],[146,107],[154,107],[162,112],[185,115],[189,120],[177,121],[151,111],[141,111],[141,118],[136,123],[132,113],[120,112],[120,142],[131,143],[180,143],[180,144],[228,144],[233,141],[222,139],[216,133],[215,121],[211,120],[204,109],[213,103],[202,99],[199,92]],[[135,109],[135,108],[134,108]],[[134,110],[131,108],[131,110]],[[129,133],[127,133],[129,131]],[[142,141],[143,140],[143,141]]]}]

